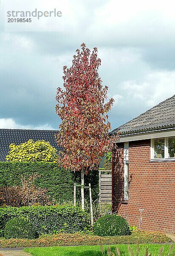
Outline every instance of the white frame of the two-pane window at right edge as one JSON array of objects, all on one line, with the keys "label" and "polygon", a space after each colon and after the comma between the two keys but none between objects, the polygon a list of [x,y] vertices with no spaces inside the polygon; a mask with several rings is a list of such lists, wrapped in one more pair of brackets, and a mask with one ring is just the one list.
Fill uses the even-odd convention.
[{"label": "white frame of the two-pane window at right edge", "polygon": [[175,161],[175,157],[168,157],[168,139],[174,138],[173,137],[161,137],[161,138],[156,138],[156,139],[164,139],[164,157],[161,158],[154,158],[154,140],[155,139],[151,139],[151,162],[168,162],[168,161]]}]

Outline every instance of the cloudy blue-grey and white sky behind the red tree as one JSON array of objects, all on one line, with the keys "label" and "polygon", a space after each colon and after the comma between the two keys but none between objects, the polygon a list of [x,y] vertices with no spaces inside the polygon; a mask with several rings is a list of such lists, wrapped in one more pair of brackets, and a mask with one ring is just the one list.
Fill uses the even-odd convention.
[{"label": "cloudy blue-grey and white sky behind the red tree", "polygon": [[173,2],[66,0],[62,32],[4,32],[1,23],[0,128],[58,128],[56,88],[82,42],[98,47],[112,128],[173,96]]}]

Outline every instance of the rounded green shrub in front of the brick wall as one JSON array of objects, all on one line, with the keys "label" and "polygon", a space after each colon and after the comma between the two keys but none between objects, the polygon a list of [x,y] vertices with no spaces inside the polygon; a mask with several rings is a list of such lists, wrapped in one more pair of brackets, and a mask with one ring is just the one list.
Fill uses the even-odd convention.
[{"label": "rounded green shrub in front of the brick wall", "polygon": [[96,236],[128,236],[130,234],[129,224],[119,215],[104,215],[94,223]]}]

